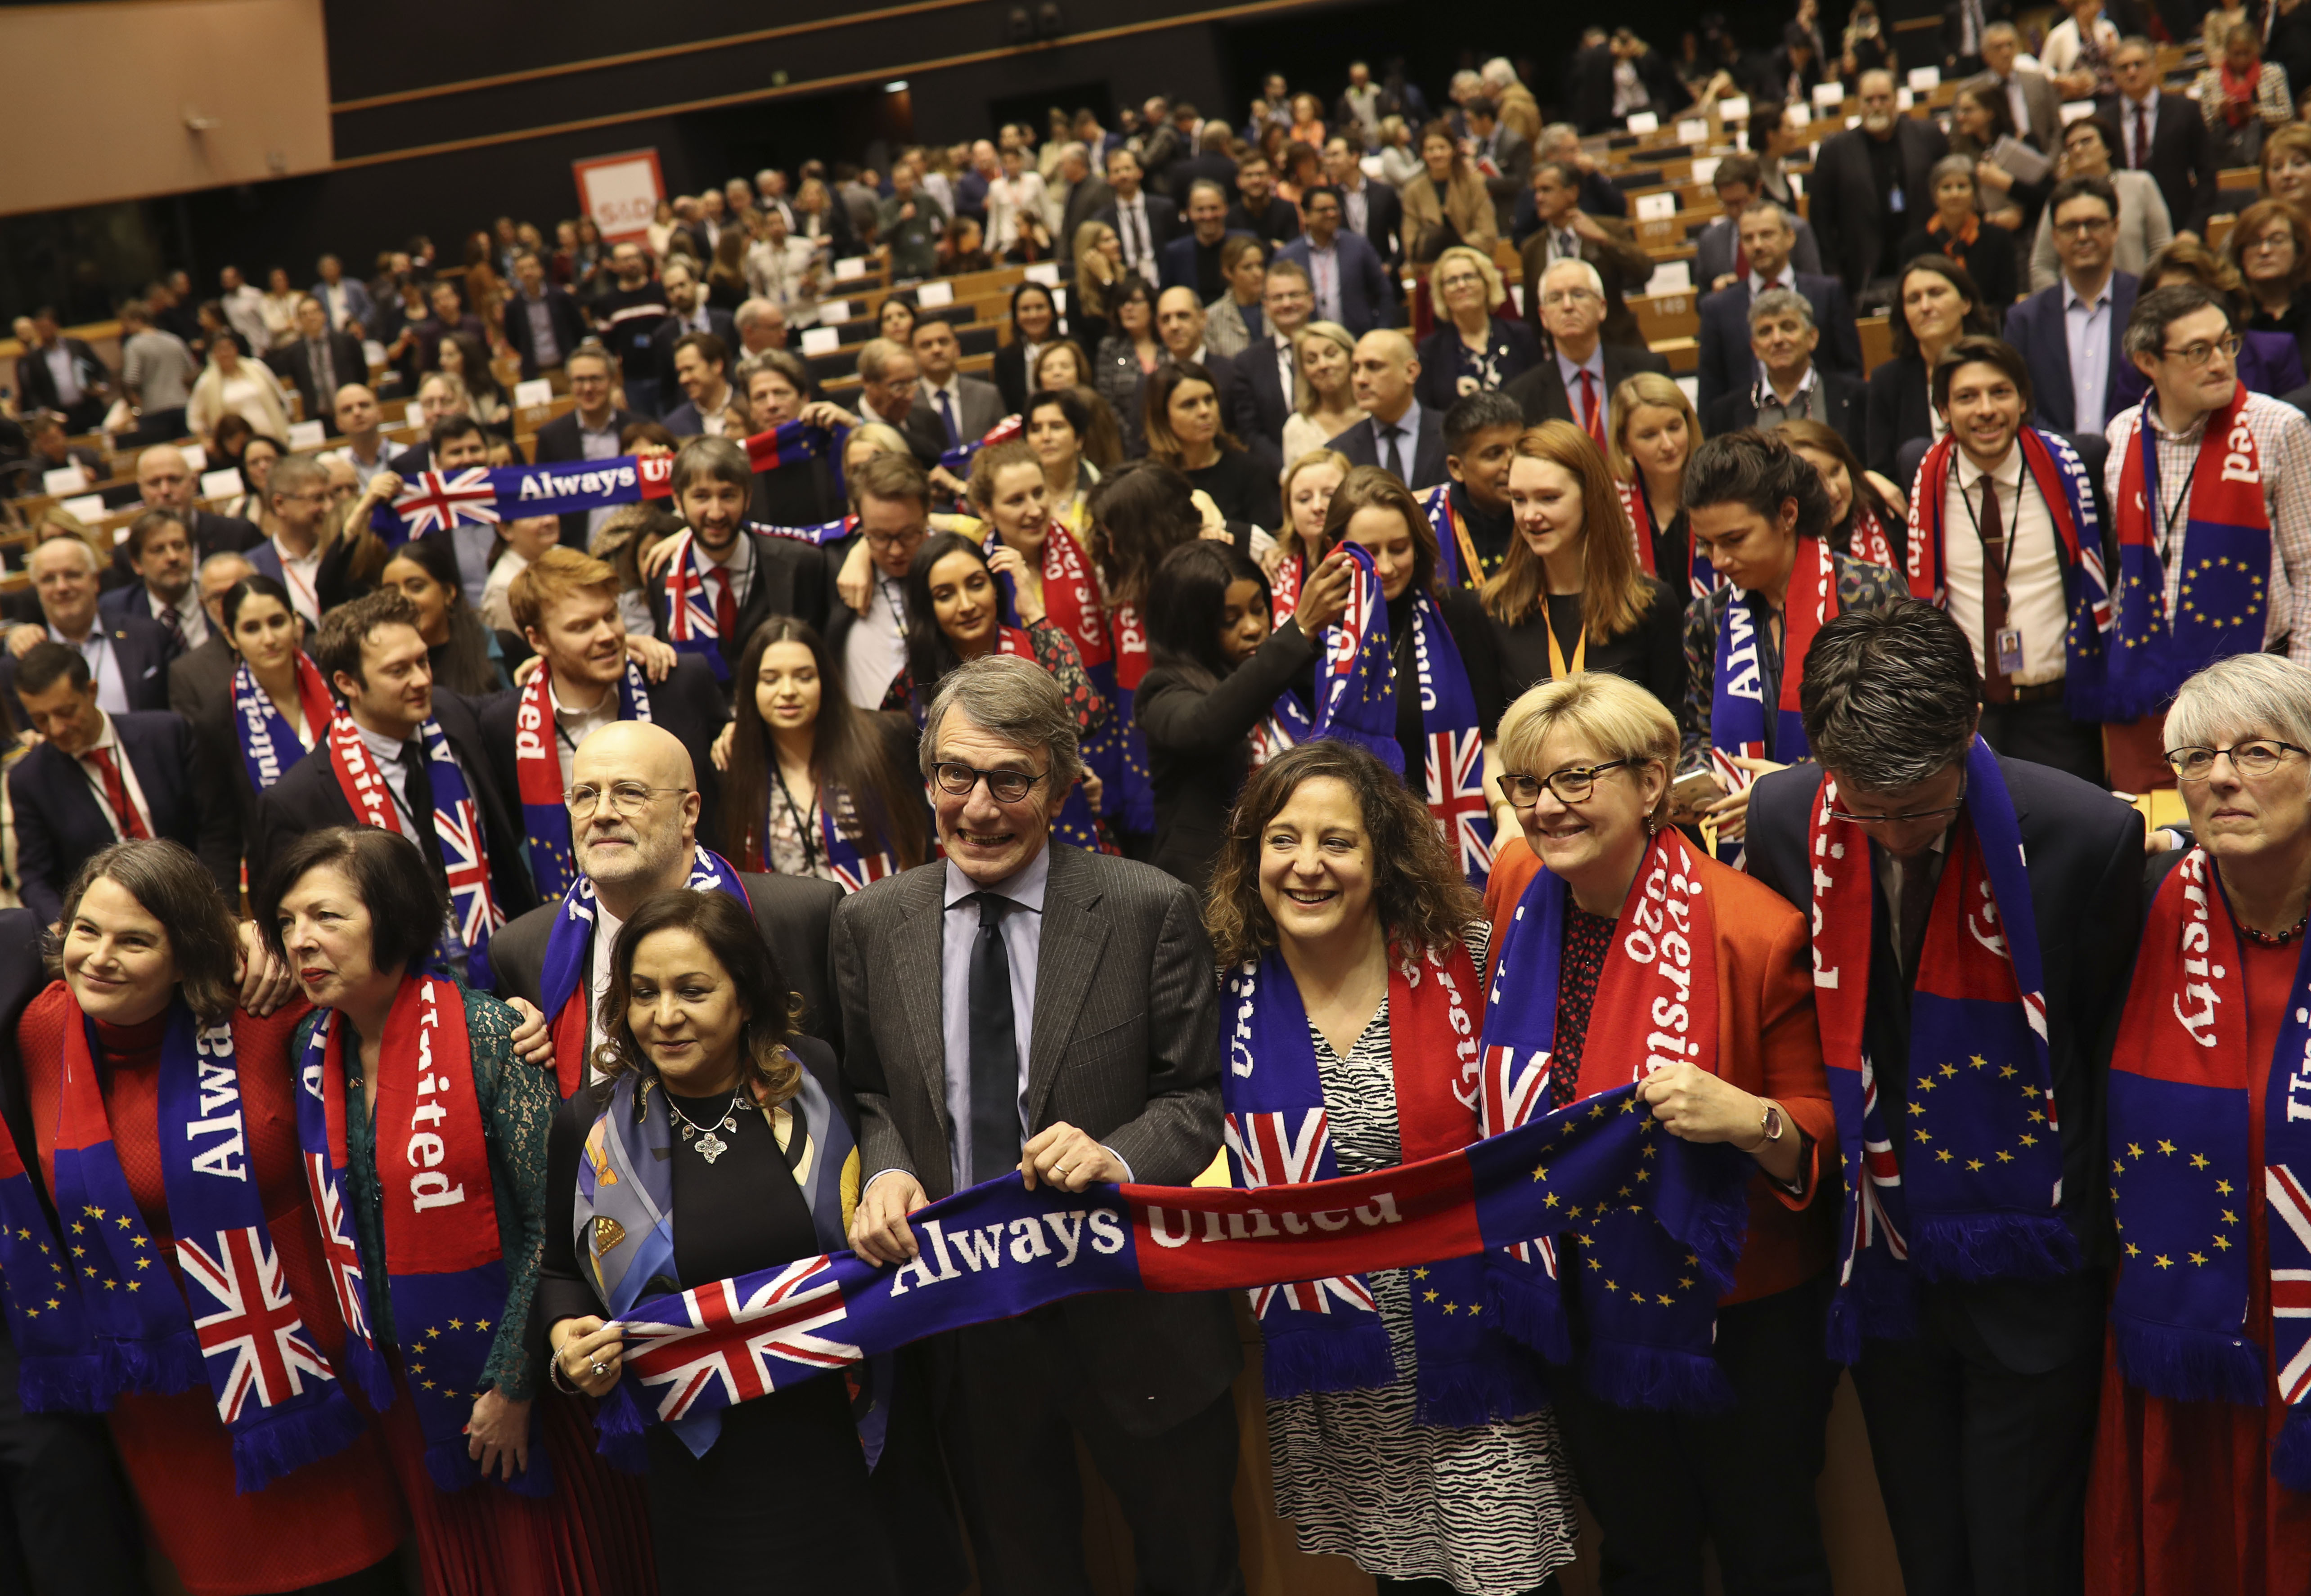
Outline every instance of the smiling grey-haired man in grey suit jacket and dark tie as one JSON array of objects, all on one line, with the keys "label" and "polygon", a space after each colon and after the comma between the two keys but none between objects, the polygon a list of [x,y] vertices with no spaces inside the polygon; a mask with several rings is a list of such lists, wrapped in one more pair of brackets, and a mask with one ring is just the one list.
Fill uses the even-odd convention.
[{"label": "smiling grey-haired man in grey suit jacket and dark tie", "polygon": [[[945,862],[834,910],[862,1259],[913,1259],[908,1215],[982,1180],[1181,1185],[1220,1146],[1218,998],[1195,892],[1052,841],[1079,769],[1052,677],[971,661],[922,739]],[[1229,1504],[1241,1351],[1225,1298],[1082,1296],[934,1349],[980,1589],[1091,1591],[1077,1437],[1132,1527],[1139,1589],[1243,1589]]]}]

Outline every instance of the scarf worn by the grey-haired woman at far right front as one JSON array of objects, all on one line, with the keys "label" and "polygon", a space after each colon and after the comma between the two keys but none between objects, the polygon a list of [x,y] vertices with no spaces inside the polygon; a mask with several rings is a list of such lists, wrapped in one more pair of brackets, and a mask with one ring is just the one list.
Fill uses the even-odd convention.
[{"label": "scarf worn by the grey-haired woman at far right front", "polygon": [[[2110,1326],[2128,1384],[2158,1397],[2265,1407],[2276,1374],[2286,1420],[2272,1476],[2311,1490],[2311,942],[2272,1058],[2251,1058],[2244,947],[2219,896],[2193,848],[2142,926],[2110,1058],[2110,1194],[2126,1247]],[[2249,1139],[2256,1090],[2262,1169]],[[2269,1203],[2267,1259],[2253,1256],[2246,1222],[2258,1201]],[[2249,1337],[2256,1268],[2269,1270],[2269,1344]]]}]

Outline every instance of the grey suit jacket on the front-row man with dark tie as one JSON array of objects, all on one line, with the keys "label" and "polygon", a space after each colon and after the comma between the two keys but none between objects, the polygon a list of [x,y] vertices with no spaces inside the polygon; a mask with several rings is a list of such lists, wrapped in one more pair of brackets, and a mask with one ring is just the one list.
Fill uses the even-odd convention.
[{"label": "grey suit jacket on the front-row man with dark tie", "polygon": [[[1220,1148],[1220,1007],[1197,896],[1146,864],[1049,848],[1028,1132],[1075,1125],[1135,1180],[1186,1185]],[[931,1201],[954,1192],[938,991],[945,882],[945,864],[924,864],[834,910],[860,1178],[904,1169]],[[1135,1434],[1199,1414],[1243,1360],[1218,1293],[1082,1296],[1056,1312],[1077,1372]]]}]

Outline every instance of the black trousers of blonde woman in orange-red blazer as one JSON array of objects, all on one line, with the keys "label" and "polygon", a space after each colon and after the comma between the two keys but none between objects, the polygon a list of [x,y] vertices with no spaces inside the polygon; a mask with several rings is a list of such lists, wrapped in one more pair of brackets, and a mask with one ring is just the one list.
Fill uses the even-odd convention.
[{"label": "black trousers of blonde woman in orange-red blazer", "polygon": [[1823,1275],[1717,1310],[1726,1414],[1645,1414],[1599,1402],[1578,1372],[1555,1381],[1565,1450],[1604,1527],[1606,1596],[1701,1596],[1703,1543],[1726,1596],[1830,1596],[1814,1504],[1837,1388],[1828,1300]]}]

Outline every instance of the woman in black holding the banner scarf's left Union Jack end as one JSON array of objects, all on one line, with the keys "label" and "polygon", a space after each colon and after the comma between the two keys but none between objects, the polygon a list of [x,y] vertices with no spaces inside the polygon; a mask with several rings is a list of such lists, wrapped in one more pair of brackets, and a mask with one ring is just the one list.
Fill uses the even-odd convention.
[{"label": "woman in black holding the banner scarf's left Union Jack end", "polygon": [[[661,892],[617,933],[599,1069],[555,1113],[536,1317],[557,1386],[624,1377],[617,1314],[786,1259],[839,1252],[857,1189],[848,1092],[744,905]],[[647,1434],[661,1596],[770,1571],[793,1589],[901,1589],[841,1379]]]}]

